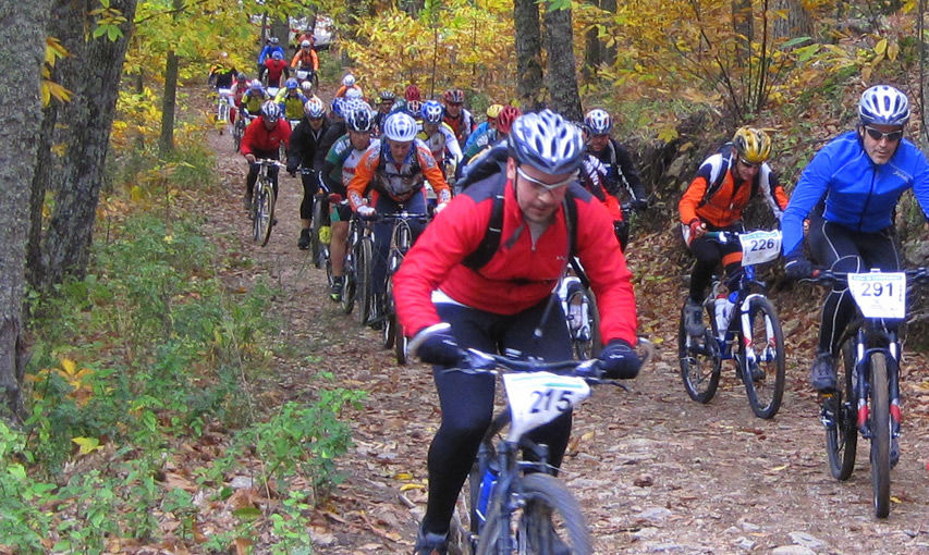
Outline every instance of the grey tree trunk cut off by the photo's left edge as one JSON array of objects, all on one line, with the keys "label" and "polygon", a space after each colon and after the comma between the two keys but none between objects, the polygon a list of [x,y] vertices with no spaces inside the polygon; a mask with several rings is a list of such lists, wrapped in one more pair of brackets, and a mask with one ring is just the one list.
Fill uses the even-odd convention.
[{"label": "grey tree trunk cut off by the photo's left edge", "polygon": [[[0,45],[0,116],[7,145],[0,150],[0,415],[10,422],[23,416],[22,382],[25,369],[23,292],[26,242],[29,232],[29,189],[41,128],[40,75],[45,62],[46,21],[50,2],[0,0],[0,18],[8,33]],[[10,29],[15,29],[10,32]]]}]

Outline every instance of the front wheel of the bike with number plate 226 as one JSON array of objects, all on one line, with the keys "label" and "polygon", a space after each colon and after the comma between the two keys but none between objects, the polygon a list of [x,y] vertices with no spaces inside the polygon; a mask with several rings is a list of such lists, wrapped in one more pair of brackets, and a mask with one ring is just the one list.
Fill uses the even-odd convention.
[{"label": "front wheel of the bike with number plate 226", "polygon": [[[742,314],[736,312],[733,318]],[[773,418],[784,396],[784,332],[771,301],[751,297],[748,304],[748,329],[739,346],[738,365],[748,395],[748,405],[758,418]],[[748,360],[750,345],[754,360]]]}]

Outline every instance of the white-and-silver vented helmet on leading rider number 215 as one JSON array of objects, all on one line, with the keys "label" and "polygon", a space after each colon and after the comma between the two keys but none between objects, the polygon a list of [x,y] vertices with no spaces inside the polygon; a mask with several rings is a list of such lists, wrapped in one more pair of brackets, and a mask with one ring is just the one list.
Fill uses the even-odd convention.
[{"label": "white-and-silver vented helmet on leading rider number 215", "polygon": [[548,174],[571,173],[584,163],[580,130],[551,110],[521,115],[508,138],[510,156]]}]

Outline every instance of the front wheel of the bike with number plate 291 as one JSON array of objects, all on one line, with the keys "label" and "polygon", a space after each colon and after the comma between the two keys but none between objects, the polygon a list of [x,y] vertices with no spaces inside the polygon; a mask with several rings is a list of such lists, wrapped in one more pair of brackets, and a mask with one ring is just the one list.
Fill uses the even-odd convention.
[{"label": "front wheel of the bike with number plate 291", "polygon": [[871,355],[871,483],[875,516],[890,514],[890,390],[888,361],[883,353]]}]

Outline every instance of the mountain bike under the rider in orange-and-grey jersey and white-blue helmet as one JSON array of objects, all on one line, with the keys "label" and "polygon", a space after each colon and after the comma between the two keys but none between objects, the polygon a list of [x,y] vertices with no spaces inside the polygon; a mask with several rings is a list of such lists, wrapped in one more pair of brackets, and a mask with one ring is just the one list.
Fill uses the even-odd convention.
[{"label": "mountain bike under the rider in orange-and-grey jersey and white-blue helmet", "polygon": [[382,214],[381,221],[393,221],[393,230],[390,234],[390,251],[387,256],[387,283],[384,284],[383,307],[381,314],[383,326],[383,348],[394,347],[396,362],[405,365],[407,361],[407,347],[410,341],[404,336],[403,330],[396,320],[396,310],[393,303],[393,274],[400,270],[400,264],[406,252],[413,246],[413,229],[410,222],[428,222],[429,214],[411,213],[406,211]]}]

